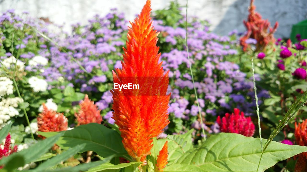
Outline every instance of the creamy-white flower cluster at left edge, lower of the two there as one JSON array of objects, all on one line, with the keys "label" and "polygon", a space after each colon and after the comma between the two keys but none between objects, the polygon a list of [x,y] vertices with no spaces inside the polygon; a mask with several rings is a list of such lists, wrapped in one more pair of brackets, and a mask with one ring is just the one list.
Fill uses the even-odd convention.
[{"label": "creamy-white flower cluster at left edge, lower of the two there", "polygon": [[6,125],[10,118],[19,115],[16,107],[21,102],[23,102],[23,99],[19,97],[2,99],[0,101],[0,129]]}]

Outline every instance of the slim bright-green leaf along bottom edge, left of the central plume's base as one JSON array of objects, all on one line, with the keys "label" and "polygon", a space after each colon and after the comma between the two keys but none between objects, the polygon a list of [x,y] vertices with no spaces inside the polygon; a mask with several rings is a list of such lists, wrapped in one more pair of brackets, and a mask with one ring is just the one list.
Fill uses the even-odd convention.
[{"label": "slim bright-green leaf along bottom edge, left of the central plume's base", "polygon": [[122,168],[125,168],[125,171],[133,172],[141,162],[131,162],[131,163],[121,163],[118,165],[113,164],[102,164],[100,166],[89,169],[87,172],[119,172]]}]

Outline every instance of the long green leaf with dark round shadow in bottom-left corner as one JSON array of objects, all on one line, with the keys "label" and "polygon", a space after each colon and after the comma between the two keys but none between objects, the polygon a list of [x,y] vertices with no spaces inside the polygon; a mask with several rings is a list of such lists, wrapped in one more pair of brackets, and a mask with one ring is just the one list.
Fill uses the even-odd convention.
[{"label": "long green leaf with dark round shadow in bottom-left corner", "polygon": [[0,160],[0,165],[5,165],[4,168],[8,171],[24,166],[25,164],[30,163],[31,161],[40,158],[41,155],[45,154],[61,135],[62,134],[57,134],[56,136],[44,139],[37,144],[30,146],[28,149],[24,149],[20,152],[4,157]]}]

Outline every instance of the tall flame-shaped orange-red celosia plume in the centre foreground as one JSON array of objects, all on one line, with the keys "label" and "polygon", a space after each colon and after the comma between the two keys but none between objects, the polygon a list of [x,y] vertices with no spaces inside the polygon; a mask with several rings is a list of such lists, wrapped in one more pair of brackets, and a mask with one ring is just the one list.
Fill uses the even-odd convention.
[{"label": "tall flame-shaped orange-red celosia plume in the centre foreground", "polygon": [[141,14],[128,27],[126,48],[123,48],[122,69],[113,71],[114,83],[139,84],[139,89],[113,89],[113,119],[119,126],[122,143],[136,161],[146,164],[153,137],[158,136],[167,124],[169,95],[168,72],[164,74],[157,44],[158,32],[153,29],[150,17],[150,0]]}]

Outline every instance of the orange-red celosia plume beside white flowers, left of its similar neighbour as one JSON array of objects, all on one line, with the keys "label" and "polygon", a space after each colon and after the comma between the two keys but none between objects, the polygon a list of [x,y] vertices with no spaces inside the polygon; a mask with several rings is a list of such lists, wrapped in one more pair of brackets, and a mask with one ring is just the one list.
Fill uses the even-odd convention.
[{"label": "orange-red celosia plume beside white flowers, left of its similar neighbour", "polygon": [[[38,131],[49,132],[49,131],[66,131],[68,127],[67,118],[61,114],[48,109],[48,107],[43,104],[43,112],[38,114],[37,117],[37,127]],[[40,136],[45,138],[44,136]]]}]

